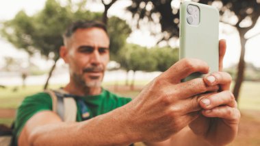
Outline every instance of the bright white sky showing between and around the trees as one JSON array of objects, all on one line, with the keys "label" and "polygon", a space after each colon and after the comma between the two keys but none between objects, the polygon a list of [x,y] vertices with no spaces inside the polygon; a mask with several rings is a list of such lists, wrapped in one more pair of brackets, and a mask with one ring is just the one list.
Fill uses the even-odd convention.
[{"label": "bright white sky showing between and around the trees", "polygon": [[[28,15],[35,14],[44,7],[46,0],[8,0],[1,1],[0,3],[0,21],[6,21],[14,18],[14,16],[20,10],[25,10]],[[175,0],[173,5],[179,5],[178,1]],[[124,8],[127,5],[131,5],[131,1],[118,0],[118,2],[112,5],[109,9],[108,16],[118,16],[121,19],[125,19],[127,23],[133,25],[131,14],[126,12]],[[101,3],[91,3],[87,4],[86,7],[95,12],[103,12],[104,8]],[[158,28],[159,29],[159,28]],[[227,32],[223,34],[222,32]],[[254,34],[260,33],[260,21],[257,25],[247,34],[247,36],[252,36]],[[220,24],[220,39],[224,38],[227,42],[226,57],[224,58],[224,67],[237,64],[240,55],[240,42],[239,34],[236,29],[229,27],[228,25]],[[127,42],[133,42],[146,47],[153,47],[156,44],[157,38],[151,35],[148,27],[141,27],[141,29],[133,29],[132,34],[127,38]],[[252,62],[255,66],[260,67],[260,35],[248,40],[246,43],[246,62]],[[170,42],[172,46],[178,46],[179,40],[172,40]],[[0,36],[0,66],[3,66],[3,58],[5,56],[15,57],[15,58],[27,58],[27,53],[22,50],[18,50],[13,47],[9,42],[6,42]],[[41,68],[51,66],[51,61],[45,61],[40,59],[40,55],[36,55],[33,58]],[[62,64],[62,62],[60,62]],[[23,65],[23,64],[22,64]],[[25,64],[26,65],[26,64]]]}]

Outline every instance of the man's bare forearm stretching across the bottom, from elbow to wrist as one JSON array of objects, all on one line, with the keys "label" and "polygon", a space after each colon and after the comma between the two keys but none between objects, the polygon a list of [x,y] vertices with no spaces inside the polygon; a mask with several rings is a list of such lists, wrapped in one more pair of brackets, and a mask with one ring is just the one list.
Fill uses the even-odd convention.
[{"label": "man's bare forearm stretching across the bottom, from elbow to wrist", "polygon": [[129,145],[137,139],[120,109],[80,123],[43,125],[31,134],[32,145]]}]

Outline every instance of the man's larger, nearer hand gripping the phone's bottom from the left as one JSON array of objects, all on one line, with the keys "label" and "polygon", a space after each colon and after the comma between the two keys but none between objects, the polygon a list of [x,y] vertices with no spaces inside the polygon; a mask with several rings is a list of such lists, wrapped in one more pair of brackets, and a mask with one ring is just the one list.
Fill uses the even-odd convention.
[{"label": "man's larger, nearer hand gripping the phone's bottom from the left", "polygon": [[163,141],[179,132],[198,117],[201,109],[197,96],[214,92],[218,86],[207,86],[202,78],[181,83],[191,73],[208,73],[201,60],[183,59],[156,77],[133,101],[125,106],[129,131],[135,141]]}]

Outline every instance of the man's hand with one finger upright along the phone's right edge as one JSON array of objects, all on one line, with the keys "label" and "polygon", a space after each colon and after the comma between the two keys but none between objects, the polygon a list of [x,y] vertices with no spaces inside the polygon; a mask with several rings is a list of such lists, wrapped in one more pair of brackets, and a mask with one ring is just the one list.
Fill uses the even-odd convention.
[{"label": "man's hand with one finger upright along the phone's right edge", "polygon": [[[220,40],[220,71],[222,71],[225,51],[226,43]],[[229,91],[231,76],[224,72],[211,73],[204,77],[204,81],[208,86],[219,84],[220,93],[209,93],[199,97],[201,99],[199,104],[204,110],[198,119],[190,123],[190,128],[198,136],[204,136],[205,140],[213,145],[230,143],[237,134],[240,118],[237,102]]]}]

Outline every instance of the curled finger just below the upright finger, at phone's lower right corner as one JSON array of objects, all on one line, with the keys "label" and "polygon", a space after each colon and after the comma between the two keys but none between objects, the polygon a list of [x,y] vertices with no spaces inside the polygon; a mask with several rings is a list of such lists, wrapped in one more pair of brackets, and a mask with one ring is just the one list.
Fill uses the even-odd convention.
[{"label": "curled finger just below the upright finger, at phone's lower right corner", "polygon": [[203,80],[208,86],[216,86],[220,84],[221,90],[229,90],[232,77],[226,72],[214,72],[203,77]]}]

